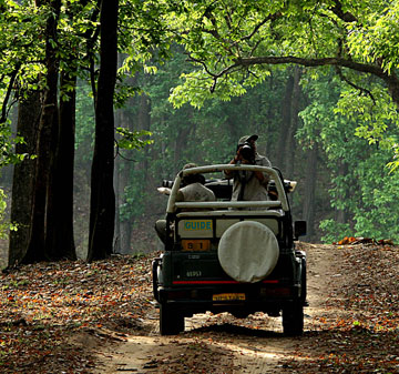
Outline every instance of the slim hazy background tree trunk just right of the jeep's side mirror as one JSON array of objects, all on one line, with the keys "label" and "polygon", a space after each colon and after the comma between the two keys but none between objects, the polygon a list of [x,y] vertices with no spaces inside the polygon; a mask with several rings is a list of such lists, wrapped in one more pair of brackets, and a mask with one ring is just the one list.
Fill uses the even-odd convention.
[{"label": "slim hazy background tree trunk just right of the jeep's side mirror", "polygon": [[318,146],[314,144],[313,149],[308,151],[306,161],[305,174],[305,201],[304,201],[304,220],[307,221],[307,234],[304,236],[305,241],[311,241],[314,236],[315,225],[315,195],[317,181],[317,156]]}]

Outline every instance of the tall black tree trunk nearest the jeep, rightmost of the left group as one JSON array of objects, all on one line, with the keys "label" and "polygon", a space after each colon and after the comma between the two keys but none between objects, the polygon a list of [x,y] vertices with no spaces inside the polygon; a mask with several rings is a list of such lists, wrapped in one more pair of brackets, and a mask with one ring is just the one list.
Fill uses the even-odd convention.
[{"label": "tall black tree trunk nearest the jeep, rightmost of the left group", "polygon": [[102,1],[101,64],[95,103],[88,261],[104,259],[113,249],[115,224],[113,94],[117,68],[117,0]]}]

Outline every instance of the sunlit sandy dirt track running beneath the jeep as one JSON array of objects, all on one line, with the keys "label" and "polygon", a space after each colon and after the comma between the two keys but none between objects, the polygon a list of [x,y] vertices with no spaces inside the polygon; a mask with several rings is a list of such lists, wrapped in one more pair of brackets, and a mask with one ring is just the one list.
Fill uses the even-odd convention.
[{"label": "sunlit sandy dirt track running beneath the jeep", "polygon": [[263,313],[243,320],[227,313],[195,315],[186,319],[184,333],[160,336],[154,307],[144,321],[147,333],[129,335],[124,342],[100,351],[93,373],[303,372],[301,361],[311,361],[304,347],[311,346],[315,357],[326,354],[317,344],[324,326],[328,322],[346,320],[351,313],[337,307],[337,303],[335,306],[328,303],[351,276],[345,269],[348,265],[344,252],[330,245],[307,244],[304,249],[308,256],[309,302],[305,310],[304,336],[285,337],[280,317],[268,317]]}]

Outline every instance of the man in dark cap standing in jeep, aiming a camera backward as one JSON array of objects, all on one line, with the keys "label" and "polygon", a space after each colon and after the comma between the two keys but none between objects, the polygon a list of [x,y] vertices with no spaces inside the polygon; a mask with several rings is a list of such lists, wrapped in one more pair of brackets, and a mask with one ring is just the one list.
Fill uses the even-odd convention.
[{"label": "man in dark cap standing in jeep, aiming a camera backward", "polygon": [[[231,164],[253,164],[272,168],[270,161],[257,153],[256,140],[258,135],[242,137],[237,144],[237,152]],[[260,201],[268,200],[268,175],[262,172],[225,171],[226,179],[234,179],[233,201]]]}]

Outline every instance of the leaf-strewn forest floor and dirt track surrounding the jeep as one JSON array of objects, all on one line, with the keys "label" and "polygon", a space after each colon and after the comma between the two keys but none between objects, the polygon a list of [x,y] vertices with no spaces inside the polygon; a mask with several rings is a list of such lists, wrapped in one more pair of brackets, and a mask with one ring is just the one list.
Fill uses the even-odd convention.
[{"label": "leaf-strewn forest floor and dirt track surrounding the jeep", "polygon": [[160,336],[150,256],[25,265],[0,277],[1,373],[399,373],[399,247],[299,243],[305,333],[262,313]]}]

